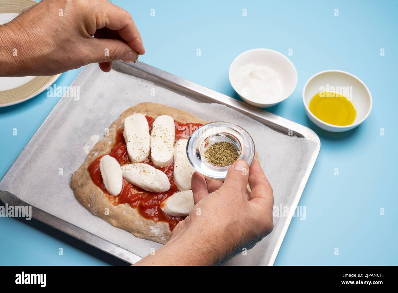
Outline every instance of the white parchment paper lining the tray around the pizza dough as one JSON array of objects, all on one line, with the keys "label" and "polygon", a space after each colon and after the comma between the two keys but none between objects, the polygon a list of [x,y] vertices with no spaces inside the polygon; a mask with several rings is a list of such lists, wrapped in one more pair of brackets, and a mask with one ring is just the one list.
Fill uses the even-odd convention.
[{"label": "white parchment paper lining the tray around the pizza dough", "polygon": [[[72,85],[78,87],[73,90],[79,97],[64,96],[60,100],[6,173],[0,190],[10,191],[31,205],[142,257],[161,244],[136,238],[93,216],[78,203],[70,188],[72,173],[126,108],[140,102],[156,102],[189,111],[204,120],[228,121],[242,126],[255,142],[261,165],[273,187],[275,206],[293,204],[316,147],[304,138],[275,132],[224,105],[197,103],[150,81],[117,71],[103,73],[96,64],[88,65]],[[63,175],[60,175],[61,169]],[[229,264],[269,264],[288,219],[274,217],[273,232],[247,255],[239,255]]]}]

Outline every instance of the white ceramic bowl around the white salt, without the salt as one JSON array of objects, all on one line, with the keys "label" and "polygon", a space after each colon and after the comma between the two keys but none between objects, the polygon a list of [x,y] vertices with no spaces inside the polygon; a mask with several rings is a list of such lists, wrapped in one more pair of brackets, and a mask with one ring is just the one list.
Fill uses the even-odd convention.
[{"label": "white ceramic bowl around the white salt, without the salt", "polygon": [[[271,67],[279,74],[283,91],[278,100],[267,101],[265,99],[264,102],[259,103],[252,100],[250,96],[243,96],[242,93],[239,92],[236,87],[236,73],[240,67],[251,62],[254,62],[254,64],[259,66]],[[293,93],[297,85],[297,71],[292,61],[277,51],[271,49],[252,49],[243,52],[236,57],[234,61],[232,61],[231,66],[229,67],[229,81],[232,88],[234,88],[242,100],[253,106],[266,108],[282,102]]]}]

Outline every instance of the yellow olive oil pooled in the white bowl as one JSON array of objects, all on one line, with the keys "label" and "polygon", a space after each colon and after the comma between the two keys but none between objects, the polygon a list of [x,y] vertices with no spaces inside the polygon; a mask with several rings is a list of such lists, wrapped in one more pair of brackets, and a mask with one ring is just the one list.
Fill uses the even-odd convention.
[{"label": "yellow olive oil pooled in the white bowl", "polygon": [[338,126],[352,124],[357,116],[353,102],[337,92],[318,92],[310,100],[309,108],[323,122]]}]

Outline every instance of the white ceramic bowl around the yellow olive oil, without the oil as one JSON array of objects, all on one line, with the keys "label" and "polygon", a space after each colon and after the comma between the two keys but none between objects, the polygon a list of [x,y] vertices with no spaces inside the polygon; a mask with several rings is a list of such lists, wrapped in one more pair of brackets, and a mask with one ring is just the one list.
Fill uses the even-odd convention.
[{"label": "white ceramic bowl around the yellow olive oil, without the oil", "polygon": [[[315,94],[324,89],[339,92],[352,99],[357,109],[357,116],[352,124],[345,126],[333,125],[320,120],[312,114],[308,107],[310,100]],[[343,92],[344,90],[345,93]],[[371,92],[365,83],[355,75],[341,70],[321,71],[310,77],[302,90],[302,102],[308,118],[316,126],[332,132],[343,132],[357,127],[369,116],[373,104]]]}]

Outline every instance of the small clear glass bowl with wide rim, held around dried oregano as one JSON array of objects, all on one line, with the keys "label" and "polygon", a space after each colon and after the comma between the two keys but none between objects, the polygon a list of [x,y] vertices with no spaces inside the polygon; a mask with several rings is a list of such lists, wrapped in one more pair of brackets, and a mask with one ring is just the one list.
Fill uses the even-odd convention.
[{"label": "small clear glass bowl with wide rim, held around dried oregano", "polygon": [[196,171],[210,179],[224,180],[230,165],[218,166],[205,158],[206,149],[216,142],[229,142],[238,150],[238,159],[249,166],[256,151],[252,137],[242,127],[229,122],[211,122],[199,127],[188,139],[187,157]]}]

